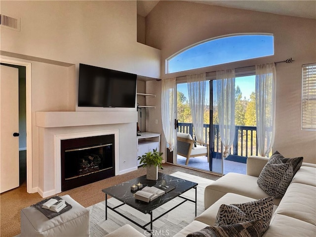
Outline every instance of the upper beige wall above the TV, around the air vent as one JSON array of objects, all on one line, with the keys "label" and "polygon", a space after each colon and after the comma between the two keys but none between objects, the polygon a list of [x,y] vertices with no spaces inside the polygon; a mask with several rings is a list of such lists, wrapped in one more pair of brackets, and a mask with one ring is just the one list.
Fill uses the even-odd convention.
[{"label": "upper beige wall above the TV, around the air vent", "polygon": [[21,18],[21,32],[1,28],[3,51],[159,77],[159,50],[137,43],[136,1],[0,4],[1,13]]}]

